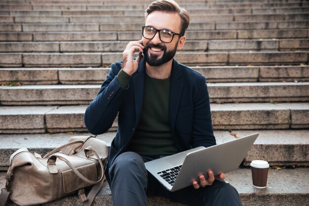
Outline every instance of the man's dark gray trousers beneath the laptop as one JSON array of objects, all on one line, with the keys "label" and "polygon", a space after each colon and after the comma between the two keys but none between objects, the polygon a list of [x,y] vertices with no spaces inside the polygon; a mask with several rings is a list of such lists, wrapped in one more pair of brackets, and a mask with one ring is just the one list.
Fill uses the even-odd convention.
[{"label": "man's dark gray trousers beneath the laptop", "polygon": [[169,198],[188,206],[242,206],[236,189],[224,180],[216,179],[211,186],[193,186],[170,192],[145,168],[151,158],[134,152],[120,154],[110,169],[114,206],[148,206],[151,195]]}]

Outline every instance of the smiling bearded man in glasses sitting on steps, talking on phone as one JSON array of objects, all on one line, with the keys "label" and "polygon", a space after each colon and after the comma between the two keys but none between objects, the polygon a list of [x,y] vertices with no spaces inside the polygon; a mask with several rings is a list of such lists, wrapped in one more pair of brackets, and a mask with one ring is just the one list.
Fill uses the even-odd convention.
[{"label": "smiling bearded man in glasses sitting on steps, talking on phone", "polygon": [[[131,41],[122,62],[112,64],[84,121],[102,134],[118,114],[118,128],[106,172],[115,206],[147,206],[147,195],[185,205],[241,205],[235,188],[220,174],[200,175],[193,186],[167,191],[144,162],[198,146],[216,144],[205,77],[173,59],[186,41],[189,13],[173,0],[154,1],[146,10],[143,38]],[[136,52],[143,56],[133,59]],[[202,163],[201,163],[202,164]]]}]

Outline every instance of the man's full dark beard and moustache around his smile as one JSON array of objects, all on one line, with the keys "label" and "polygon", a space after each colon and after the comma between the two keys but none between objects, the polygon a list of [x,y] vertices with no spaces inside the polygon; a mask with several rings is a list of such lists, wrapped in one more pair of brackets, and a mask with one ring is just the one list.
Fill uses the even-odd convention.
[{"label": "man's full dark beard and moustache around his smile", "polygon": [[[171,59],[173,59],[173,57],[176,54],[177,51],[177,45],[176,44],[175,48],[171,51],[166,51],[166,46],[164,45],[154,45],[152,43],[148,43],[146,44],[145,48],[144,48],[144,58],[145,61],[152,67],[157,67],[160,65],[163,65],[166,62],[169,62]],[[163,50],[163,55],[161,58],[159,58],[157,55],[151,54],[148,52],[149,47],[155,47],[155,48],[159,48]]]}]

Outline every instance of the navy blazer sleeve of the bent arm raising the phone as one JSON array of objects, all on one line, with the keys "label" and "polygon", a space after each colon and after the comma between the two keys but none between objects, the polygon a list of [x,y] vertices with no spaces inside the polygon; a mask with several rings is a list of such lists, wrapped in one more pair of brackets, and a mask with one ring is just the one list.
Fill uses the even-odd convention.
[{"label": "navy blazer sleeve of the bent arm raising the phone", "polygon": [[122,67],[121,62],[112,64],[111,70],[103,82],[96,98],[88,105],[84,114],[87,130],[94,135],[107,132],[113,125],[126,89],[121,88],[117,74]]}]

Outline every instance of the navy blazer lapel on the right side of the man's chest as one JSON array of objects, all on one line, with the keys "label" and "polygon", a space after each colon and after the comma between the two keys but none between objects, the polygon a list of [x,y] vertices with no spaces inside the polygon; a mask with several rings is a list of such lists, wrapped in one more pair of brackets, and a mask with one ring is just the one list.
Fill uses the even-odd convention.
[{"label": "navy blazer lapel on the right side of the man's chest", "polygon": [[181,70],[176,60],[173,60],[172,75],[171,75],[171,88],[169,95],[169,124],[171,132],[174,133],[175,121],[177,111],[180,103],[180,98],[183,90],[183,83],[179,81]]}]

